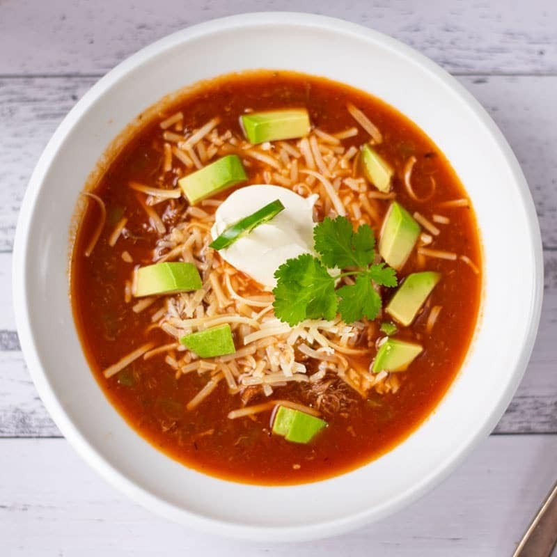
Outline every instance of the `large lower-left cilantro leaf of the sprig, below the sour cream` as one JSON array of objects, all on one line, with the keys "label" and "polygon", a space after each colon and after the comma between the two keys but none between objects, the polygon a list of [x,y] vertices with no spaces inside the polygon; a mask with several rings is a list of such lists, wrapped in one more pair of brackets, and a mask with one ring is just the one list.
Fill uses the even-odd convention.
[{"label": "large lower-left cilantro leaf of the sprig, below the sour cream", "polygon": [[274,273],[276,317],[291,327],[304,319],[334,319],[338,306],[335,280],[320,260],[303,253],[288,259]]}]

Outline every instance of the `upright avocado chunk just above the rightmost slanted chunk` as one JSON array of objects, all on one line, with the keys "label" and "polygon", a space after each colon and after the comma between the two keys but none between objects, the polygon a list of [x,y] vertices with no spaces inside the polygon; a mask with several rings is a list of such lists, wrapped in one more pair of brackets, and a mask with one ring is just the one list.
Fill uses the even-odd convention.
[{"label": "upright avocado chunk just above the rightmost slanted chunk", "polygon": [[385,215],[379,237],[379,253],[393,269],[400,271],[404,267],[420,230],[420,225],[409,212],[393,201]]}]

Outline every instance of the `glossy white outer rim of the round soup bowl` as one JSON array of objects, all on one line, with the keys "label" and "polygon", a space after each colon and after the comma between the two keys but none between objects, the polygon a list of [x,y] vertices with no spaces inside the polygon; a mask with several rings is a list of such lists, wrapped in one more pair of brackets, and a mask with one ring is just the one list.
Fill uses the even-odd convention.
[{"label": "glossy white outer rim of the round soup bowl", "polygon": [[[141,65],[144,61],[157,56],[161,52],[166,51],[173,47],[173,45],[188,42],[195,38],[205,36],[210,33],[225,31],[242,26],[257,26],[264,24],[281,24],[281,25],[302,25],[314,26],[325,31],[342,31],[344,33],[352,34],[353,36],[365,38],[367,40],[374,40],[379,42],[389,49],[393,49],[401,56],[405,56],[409,61],[416,63],[424,71],[434,74],[441,83],[446,86],[450,91],[455,93],[467,105],[480,123],[486,128],[487,132],[492,136],[496,142],[501,155],[505,158],[505,163],[508,165],[512,176],[515,180],[515,185],[518,187],[521,204],[523,205],[526,219],[528,221],[528,237],[530,246],[533,253],[535,274],[534,284],[535,288],[532,292],[533,304],[531,313],[528,316],[528,333],[522,341],[522,347],[519,359],[515,363],[515,368],[509,374],[508,385],[504,395],[499,400],[498,404],[494,405],[483,423],[483,427],[479,428],[460,445],[450,460],[444,462],[439,466],[439,469],[432,471],[430,476],[423,478],[423,481],[414,487],[410,492],[400,494],[397,499],[391,499],[388,503],[382,505],[381,508],[375,510],[366,510],[365,512],[356,512],[353,515],[348,515],[340,519],[334,519],[310,526],[248,526],[242,523],[233,523],[228,521],[221,521],[211,517],[202,517],[196,515],[194,512],[178,508],[177,506],[163,501],[155,496],[148,489],[141,487],[141,485],[130,480],[123,475],[116,467],[110,464],[107,460],[97,453],[97,450],[86,439],[84,434],[72,423],[66,414],[61,402],[58,400],[54,390],[52,389],[49,379],[45,370],[40,363],[40,356],[36,347],[35,338],[30,324],[30,308],[29,301],[26,294],[26,281],[22,277],[26,275],[26,251],[28,244],[29,225],[31,221],[31,214],[33,207],[36,204],[38,194],[42,187],[43,179],[47,174],[49,165],[56,156],[58,148],[63,143],[66,134],[72,130],[72,127],[77,123],[82,114],[86,113],[91,107],[93,102],[104,93],[112,84],[125,77],[125,75],[134,70],[137,66]],[[50,416],[61,430],[63,436],[70,441],[70,444],[77,450],[77,453],[97,471],[107,482],[113,487],[124,492],[136,503],[140,503],[149,510],[157,512],[173,521],[178,521],[181,524],[197,528],[206,533],[219,533],[227,537],[242,538],[249,540],[311,540],[315,538],[328,537],[345,533],[359,526],[363,526],[368,522],[390,515],[392,512],[399,510],[412,501],[421,497],[425,492],[432,489],[434,485],[439,484],[448,474],[455,469],[455,467],[464,460],[466,455],[471,453],[480,441],[482,441],[489,432],[493,429],[499,418],[505,411],[512,395],[524,375],[528,359],[530,358],[533,350],[535,337],[538,331],[538,324],[540,321],[540,314],[542,308],[542,294],[543,294],[543,252],[542,252],[542,239],[538,219],[535,212],[535,206],[531,197],[530,190],[526,182],[526,178],[521,171],[519,163],[512,152],[509,144],[505,140],[499,127],[494,123],[487,111],[480,105],[480,103],[469,93],[464,86],[462,86],[453,76],[448,74],[439,65],[434,63],[423,54],[417,52],[413,48],[395,40],[389,36],[379,33],[368,27],[346,22],[343,19],[335,17],[327,17],[323,15],[314,15],[309,13],[299,12],[263,12],[263,13],[242,13],[229,17],[222,17],[219,19],[212,19],[207,22],[189,26],[175,33],[153,42],[152,44],[144,47],[123,62],[116,65],[115,68],[107,72],[93,87],[91,87],[86,94],[81,97],[70,112],[65,116],[60,125],[58,125],[56,132],[47,143],[45,150],[42,152],[36,167],[29,180],[29,185],[26,189],[22,207],[19,212],[17,220],[17,228],[15,232],[15,240],[13,246],[13,304],[15,310],[15,322],[19,335],[19,342],[22,347],[22,352],[29,368],[29,373],[33,379],[40,394],[42,402],[49,411]],[[327,481],[327,480],[325,480]],[[319,485],[317,483],[316,485]],[[280,487],[273,487],[272,489],[280,489]]]}]

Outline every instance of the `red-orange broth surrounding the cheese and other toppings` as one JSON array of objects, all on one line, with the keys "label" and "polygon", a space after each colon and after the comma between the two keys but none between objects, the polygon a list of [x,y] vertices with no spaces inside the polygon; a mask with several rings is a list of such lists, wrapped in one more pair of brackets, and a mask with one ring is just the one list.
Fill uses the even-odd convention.
[{"label": "red-orange broth surrounding the cheese and other toppings", "polygon": [[[328,134],[356,127],[358,133],[341,140],[340,146],[345,150],[351,146],[359,149],[369,136],[347,111],[347,102],[359,107],[382,132],[383,141],[376,149],[395,168],[396,200],[411,214],[423,214],[439,229],[439,235],[432,235],[434,241],[425,247],[459,256],[456,260],[445,260],[420,256],[414,249],[399,273],[399,278],[403,278],[427,269],[441,272],[443,278],[414,323],[400,329],[396,337],[414,340],[424,348],[406,372],[396,374],[398,390],[384,394],[372,391],[363,397],[333,378],[329,389],[333,394],[338,391],[341,399],[346,396],[349,404],[329,413],[328,427],[309,444],[295,444],[272,434],[270,410],[229,419],[228,412],[242,407],[242,401],[239,395],[230,394],[225,381],[219,382],[198,407],[187,410],[187,402],[207,383],[206,374],[190,372],[177,377],[175,369],[165,362],[164,354],[136,359],[122,372],[105,378],[102,373],[105,368],[148,340],[156,345],[174,340],[161,329],[153,328],[146,333],[160,305],[155,303],[135,313],[132,306],[138,300],[125,300],[125,283],[130,281],[134,265],[152,263],[153,249],[160,237],[139,203],[137,192],[127,184],[136,181],[175,188],[180,173],[191,171],[173,159],[173,166],[181,169],[166,173],[163,185],[155,184],[164,164],[160,121],[181,111],[181,123],[172,125],[168,132],[183,134],[183,130],[195,130],[218,116],[219,132],[231,130],[242,136],[238,117],[246,109],[306,107],[313,127]],[[295,145],[295,140],[290,143]],[[425,202],[415,201],[405,188],[409,157],[416,158],[411,173],[416,194],[427,196],[432,184],[436,186]],[[273,170],[253,159],[247,164],[251,165],[246,166],[247,183],[261,183],[265,171]],[[354,175],[359,177],[359,172],[355,168]],[[473,209],[465,201],[457,206],[444,205],[448,201],[467,200],[450,164],[414,123],[375,97],[333,81],[290,72],[248,72],[208,81],[194,93],[162,106],[159,117],[143,125],[113,157],[91,191],[104,201],[107,222],[91,256],[86,257],[84,251],[100,218],[97,205],[89,203],[81,217],[72,253],[71,297],[84,352],[100,387],[127,423],[152,446],[186,466],[228,480],[267,485],[306,483],[350,471],[408,437],[434,411],[462,366],[478,320],[482,285],[480,242]],[[369,185],[364,195],[372,191],[377,190]],[[218,198],[226,198],[229,193],[230,190],[221,193]],[[354,200],[361,205],[357,194]],[[391,201],[373,197],[370,201],[381,219]],[[162,217],[165,205],[154,205]],[[210,213],[214,207],[203,210]],[[323,209],[318,213],[318,219],[325,216]],[[434,222],[439,219],[434,215],[440,215],[443,222]],[[123,216],[127,217],[125,233],[110,246],[109,238]],[[176,222],[175,218],[165,221],[167,229]],[[372,227],[377,236],[380,222],[372,222]],[[430,234],[427,230],[423,232]],[[242,281],[251,294],[261,293],[257,283],[250,282],[248,277],[243,276]],[[392,293],[392,290],[382,293],[384,303]],[[441,306],[441,311],[428,333],[427,318],[434,306]],[[375,329],[370,325],[370,330],[375,330],[371,340],[380,336],[378,325],[379,322]],[[354,365],[367,370],[377,351],[375,342],[366,343],[363,339],[361,346],[367,352],[358,356]],[[288,383],[274,389],[270,398],[304,405],[315,403],[306,383]],[[256,393],[247,404],[265,400],[263,393]],[[335,399],[331,401],[334,403]]]}]

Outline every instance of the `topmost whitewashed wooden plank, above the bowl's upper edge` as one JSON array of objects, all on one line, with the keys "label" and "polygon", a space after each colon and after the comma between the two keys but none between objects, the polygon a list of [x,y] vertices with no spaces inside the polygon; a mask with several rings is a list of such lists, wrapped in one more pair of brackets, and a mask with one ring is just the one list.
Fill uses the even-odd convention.
[{"label": "topmost whitewashed wooden plank, above the bowl's upper edge", "polygon": [[369,2],[136,0],[4,2],[1,74],[104,73],[141,47],[191,24],[234,13],[294,10],[350,20],[387,33],[451,72],[557,71],[554,0],[501,3],[434,0]]}]

